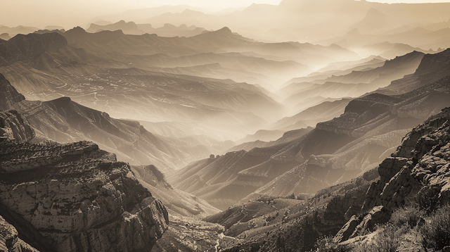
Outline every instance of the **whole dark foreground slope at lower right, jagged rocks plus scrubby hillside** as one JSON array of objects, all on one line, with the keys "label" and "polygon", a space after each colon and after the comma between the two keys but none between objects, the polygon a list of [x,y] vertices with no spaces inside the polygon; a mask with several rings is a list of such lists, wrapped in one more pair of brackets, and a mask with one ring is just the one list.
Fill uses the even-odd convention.
[{"label": "whole dark foreground slope at lower right, jagged rocks plus scrubby hillside", "polygon": [[[296,199],[260,196],[206,220],[221,223],[225,234],[236,237],[234,244],[219,245],[224,251],[309,251],[316,239],[330,235],[345,251],[368,249],[390,238],[400,239],[401,248],[418,248],[421,241],[414,237],[375,240],[383,232],[375,226],[390,220],[392,211],[407,202],[416,200],[429,211],[448,203],[449,121],[450,108],[445,108],[406,134],[391,157],[349,182]],[[405,224],[414,227],[420,222]],[[323,246],[331,249],[332,243]]]}]

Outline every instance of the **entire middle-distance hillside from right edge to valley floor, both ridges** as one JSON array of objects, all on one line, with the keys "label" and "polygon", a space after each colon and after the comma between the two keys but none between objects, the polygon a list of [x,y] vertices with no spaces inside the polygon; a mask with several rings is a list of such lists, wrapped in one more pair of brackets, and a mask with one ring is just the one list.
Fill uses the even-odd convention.
[{"label": "entire middle-distance hillside from right edge to valley floor, both ridges", "polygon": [[449,83],[444,77],[399,96],[354,99],[302,137],[200,160],[169,180],[219,209],[262,194],[315,193],[375,168],[412,127],[450,106]]}]

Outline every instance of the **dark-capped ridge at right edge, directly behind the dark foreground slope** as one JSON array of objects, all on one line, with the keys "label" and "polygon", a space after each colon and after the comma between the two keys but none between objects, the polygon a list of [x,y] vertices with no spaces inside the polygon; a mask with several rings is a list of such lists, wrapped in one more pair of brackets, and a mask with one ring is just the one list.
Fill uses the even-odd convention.
[{"label": "dark-capped ridge at right edge, directly behind the dark foreground slope", "polygon": [[326,155],[309,156],[307,162],[285,172],[255,191],[284,196],[315,190],[356,177],[390,155],[414,125],[450,106],[449,77],[399,96],[370,94],[350,101],[345,113],[317,130],[346,134],[354,139]]}]

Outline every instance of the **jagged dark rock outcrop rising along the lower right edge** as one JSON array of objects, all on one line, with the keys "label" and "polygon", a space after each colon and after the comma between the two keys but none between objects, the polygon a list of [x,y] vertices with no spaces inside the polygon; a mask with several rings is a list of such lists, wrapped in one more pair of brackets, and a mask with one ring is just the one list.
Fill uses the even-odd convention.
[{"label": "jagged dark rock outcrop rising along the lower right edge", "polygon": [[[380,180],[371,184],[361,209],[372,209],[371,213],[357,227],[347,222],[340,233],[352,232],[347,239],[364,235],[364,230],[387,222],[394,209],[416,195],[437,204],[449,203],[449,167],[450,108],[445,108],[409,132],[392,157],[380,164]],[[375,213],[380,217],[373,218]],[[345,240],[339,234],[335,237],[335,241]]]}]

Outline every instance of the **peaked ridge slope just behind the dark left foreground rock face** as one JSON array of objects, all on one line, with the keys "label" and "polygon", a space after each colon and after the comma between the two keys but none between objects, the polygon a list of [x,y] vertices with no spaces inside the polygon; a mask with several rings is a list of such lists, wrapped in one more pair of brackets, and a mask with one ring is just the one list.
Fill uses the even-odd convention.
[{"label": "peaked ridge slope just behind the dark left foreground rock face", "polygon": [[44,137],[60,143],[94,141],[129,163],[152,163],[168,171],[197,157],[165,143],[139,122],[110,118],[108,113],[79,105],[69,97],[44,102],[22,101],[12,109],[23,113]]}]

